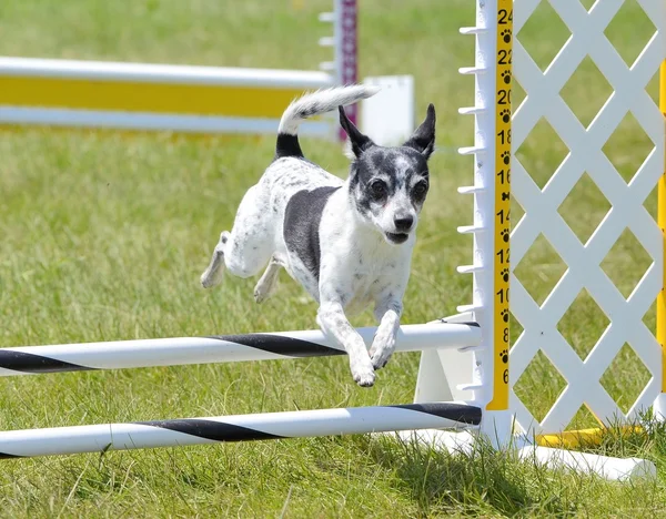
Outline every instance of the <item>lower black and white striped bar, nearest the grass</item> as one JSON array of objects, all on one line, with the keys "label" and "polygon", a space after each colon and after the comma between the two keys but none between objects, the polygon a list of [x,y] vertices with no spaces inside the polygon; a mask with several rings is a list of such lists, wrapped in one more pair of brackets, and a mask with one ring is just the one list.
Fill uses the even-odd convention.
[{"label": "lower black and white striped bar, nearest the grass", "polygon": [[465,404],[435,403],[10,430],[0,432],[0,458],[411,429],[462,429],[478,426],[481,414],[478,407]]}]

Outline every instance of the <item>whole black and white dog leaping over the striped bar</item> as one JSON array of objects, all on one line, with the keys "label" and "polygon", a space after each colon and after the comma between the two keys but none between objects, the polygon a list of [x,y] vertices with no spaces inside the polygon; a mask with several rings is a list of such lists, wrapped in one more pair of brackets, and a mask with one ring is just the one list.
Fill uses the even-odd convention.
[{"label": "whole black and white dog leaping over the striped bar", "polygon": [[[220,283],[224,267],[240,277],[265,268],[254,288],[262,303],[284,268],[319,303],[319,326],[346,350],[362,387],[374,384],[375,370],[395,349],[435,146],[432,104],[401,146],[381,146],[361,133],[343,106],[376,92],[339,86],[305,94],[286,108],[273,162],[243,196],[231,232],[222,232],[201,275],[209,288]],[[297,136],[302,121],[336,109],[353,153],[345,181],[306,160]],[[369,352],[347,315],[371,304],[379,327]]]}]

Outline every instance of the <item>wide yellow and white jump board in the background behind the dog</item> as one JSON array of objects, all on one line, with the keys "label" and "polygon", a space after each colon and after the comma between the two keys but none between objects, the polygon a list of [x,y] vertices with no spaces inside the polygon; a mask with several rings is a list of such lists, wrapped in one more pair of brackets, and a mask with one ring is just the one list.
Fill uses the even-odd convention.
[{"label": "wide yellow and white jump board in the background behind the dog", "polygon": [[293,99],[334,84],[319,71],[0,57],[0,125],[274,133]]}]

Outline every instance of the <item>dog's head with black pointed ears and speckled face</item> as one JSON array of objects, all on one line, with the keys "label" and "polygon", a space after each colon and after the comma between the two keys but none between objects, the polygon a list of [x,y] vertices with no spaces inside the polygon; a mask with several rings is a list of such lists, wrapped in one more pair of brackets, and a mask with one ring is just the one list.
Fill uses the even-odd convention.
[{"label": "dog's head with black pointed ears and speckled face", "polygon": [[427,160],[435,147],[435,108],[396,147],[380,146],[359,131],[340,108],[340,124],[347,133],[354,161],[350,196],[361,218],[392,244],[405,243],[416,228],[430,187]]}]

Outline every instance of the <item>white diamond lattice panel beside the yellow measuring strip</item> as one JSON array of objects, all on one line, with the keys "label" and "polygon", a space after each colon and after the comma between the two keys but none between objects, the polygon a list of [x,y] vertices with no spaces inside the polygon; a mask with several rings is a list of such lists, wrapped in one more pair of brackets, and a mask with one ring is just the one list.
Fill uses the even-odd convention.
[{"label": "white diamond lattice panel beside the yellow measuring strip", "polygon": [[[542,2],[514,2],[514,34],[517,34],[514,39],[514,79],[525,91],[526,98],[514,110],[512,195],[525,214],[512,233],[511,260],[513,266],[518,265],[535,240],[543,235],[566,268],[541,306],[515,273],[511,279],[512,314],[524,328],[511,350],[511,407],[517,413],[519,426],[529,432],[566,429],[582,405],[586,405],[598,419],[606,423],[630,419],[652,406],[659,394],[660,348],[654,330],[648,329],[643,318],[662,287],[663,238],[644,203],[657,185],[664,166],[664,119],[646,92],[646,85],[666,59],[666,4],[664,0],[632,1],[639,4],[652,21],[654,33],[628,32],[632,39],[644,38],[647,42],[630,65],[627,65],[605,33],[612,22],[622,22],[622,19],[613,20],[623,9],[623,0],[598,0],[589,12],[578,0],[549,0],[548,6],[541,6],[552,8],[553,16],[556,13],[559,17],[552,23],[564,23],[571,32],[549,65],[542,64],[543,68],[537,65],[521,43],[521,30]],[[604,88],[608,89],[609,85],[612,89],[607,99],[594,100],[597,105],[586,104],[587,111],[591,106],[595,110],[601,106],[596,115],[582,114],[581,119],[586,124],[565,102],[565,99],[569,101],[572,92],[565,86],[579,68],[583,68],[578,74],[583,83],[588,77],[603,75],[607,82]],[[645,161],[628,183],[603,151],[627,114],[637,121],[650,142]],[[536,171],[541,170],[536,166],[533,166],[534,171],[526,171],[519,156],[515,156],[516,150],[525,143],[539,121],[545,121],[568,149],[554,173],[546,172],[548,177],[544,182],[539,181],[544,171]],[[548,141],[543,145],[548,146]],[[544,149],[543,153],[548,151]],[[589,232],[577,235],[567,224],[567,205],[564,202],[577,184],[589,184],[589,181],[596,186],[591,196],[603,195],[609,210],[597,215],[596,220],[592,217],[592,223],[587,222],[591,231],[594,228],[592,235]],[[544,185],[543,189],[539,185]],[[625,231],[632,233],[650,258],[647,271],[627,298],[601,266]],[[582,242],[579,235],[583,240],[589,237]],[[525,268],[533,266],[539,265],[527,264]],[[561,319],[582,292],[589,294],[607,316],[607,320],[603,319],[602,323],[610,323],[594,346],[587,347],[586,356],[574,350],[558,330]],[[608,377],[605,374],[620,350],[626,355],[625,345],[633,349],[632,354],[647,367],[650,375],[627,413],[623,413],[602,384],[602,377]],[[566,387],[541,421],[528,410],[528,403],[523,403],[513,390],[539,352],[566,381]]]}]

